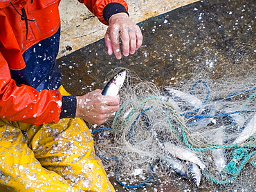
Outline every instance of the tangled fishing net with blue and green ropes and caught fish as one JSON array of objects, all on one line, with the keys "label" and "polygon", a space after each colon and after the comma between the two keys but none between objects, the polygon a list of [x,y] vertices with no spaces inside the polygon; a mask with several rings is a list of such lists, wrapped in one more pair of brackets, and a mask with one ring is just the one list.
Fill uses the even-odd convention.
[{"label": "tangled fishing net with blue and green ropes and caught fish", "polygon": [[164,88],[129,75],[120,110],[108,128],[93,131],[110,176],[134,188],[175,173],[199,186],[205,178],[228,184],[255,169],[255,71],[230,81],[197,71]]}]

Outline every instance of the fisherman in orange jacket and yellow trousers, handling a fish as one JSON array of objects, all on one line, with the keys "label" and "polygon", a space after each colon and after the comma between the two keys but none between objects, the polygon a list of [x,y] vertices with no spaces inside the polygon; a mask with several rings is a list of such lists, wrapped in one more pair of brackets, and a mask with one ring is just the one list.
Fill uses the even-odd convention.
[{"label": "fisherman in orange jacket and yellow trousers, handling a fish", "polygon": [[[143,37],[125,1],[80,2],[109,25],[109,55],[120,59],[140,48]],[[56,64],[59,3],[0,1],[0,191],[114,191],[84,121],[104,123],[119,97],[64,90]]]}]

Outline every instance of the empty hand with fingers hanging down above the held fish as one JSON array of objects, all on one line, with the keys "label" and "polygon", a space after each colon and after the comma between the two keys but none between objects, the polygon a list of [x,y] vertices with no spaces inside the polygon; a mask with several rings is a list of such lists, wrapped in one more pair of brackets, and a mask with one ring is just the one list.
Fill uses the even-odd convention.
[{"label": "empty hand with fingers hanging down above the held fish", "polygon": [[[112,53],[116,59],[121,59],[122,54],[127,57],[134,54],[143,43],[143,35],[140,28],[129,19],[125,12],[119,12],[109,18],[109,28],[104,36],[108,54]],[[122,40],[122,52],[119,39]]]}]

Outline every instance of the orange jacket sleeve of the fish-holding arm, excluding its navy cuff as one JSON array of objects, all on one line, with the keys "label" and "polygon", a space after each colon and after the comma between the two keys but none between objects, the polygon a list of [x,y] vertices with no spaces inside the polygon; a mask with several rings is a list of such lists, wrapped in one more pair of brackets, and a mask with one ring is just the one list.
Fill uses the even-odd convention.
[{"label": "orange jacket sleeve of the fish-holding arm, excluding its navy cuff", "polygon": [[17,86],[0,52],[0,118],[28,124],[58,122],[61,108],[62,95],[58,90]]}]

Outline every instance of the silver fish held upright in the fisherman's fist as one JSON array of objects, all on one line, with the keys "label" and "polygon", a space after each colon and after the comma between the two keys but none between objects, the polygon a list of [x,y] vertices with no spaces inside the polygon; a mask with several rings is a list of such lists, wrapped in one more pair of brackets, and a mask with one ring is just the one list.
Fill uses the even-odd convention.
[{"label": "silver fish held upright in the fisherman's fist", "polygon": [[118,95],[122,84],[125,81],[126,70],[122,69],[118,74],[116,74],[112,79],[110,79],[104,89],[102,90],[102,95],[115,97]]}]

